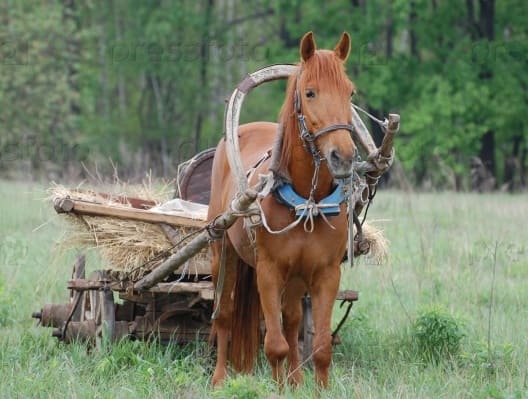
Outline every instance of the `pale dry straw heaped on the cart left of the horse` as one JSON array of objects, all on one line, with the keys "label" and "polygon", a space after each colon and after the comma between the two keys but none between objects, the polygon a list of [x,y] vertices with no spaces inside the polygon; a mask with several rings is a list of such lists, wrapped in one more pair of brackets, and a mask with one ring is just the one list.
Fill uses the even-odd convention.
[{"label": "pale dry straw heaped on the cart left of the horse", "polygon": [[[113,194],[101,194],[91,190],[67,189],[55,185],[50,189],[50,197],[71,198],[113,208],[132,208],[131,204],[126,202],[127,196],[141,197],[157,204],[165,203],[169,197],[163,190],[127,187],[125,194],[122,187],[119,187],[121,190],[116,188],[112,188]],[[65,214],[65,219],[70,229],[62,240],[61,247],[97,248],[105,262],[104,268],[109,269],[119,279],[137,281],[178,249],[157,223],[73,213]],[[197,230],[192,227],[177,227],[177,238],[183,239]],[[207,251],[202,251],[193,260],[194,262],[184,265],[184,268],[187,266],[188,269],[189,263],[206,261]]]}]

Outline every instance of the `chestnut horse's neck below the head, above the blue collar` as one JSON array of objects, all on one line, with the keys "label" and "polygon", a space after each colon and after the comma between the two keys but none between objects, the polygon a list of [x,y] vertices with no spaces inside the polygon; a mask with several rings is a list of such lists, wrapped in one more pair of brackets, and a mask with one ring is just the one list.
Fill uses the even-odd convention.
[{"label": "chestnut horse's neck below the head, above the blue collar", "polygon": [[[303,142],[299,137],[296,124],[294,127],[286,126],[285,128],[295,129],[295,132],[289,132],[292,133],[290,137],[293,138],[293,140],[290,141],[291,148],[286,149],[286,151],[290,151],[291,154],[288,165],[286,166],[288,174],[291,178],[291,183],[295,192],[304,198],[308,198],[312,189],[315,162],[312,154],[310,154],[304,147]],[[333,177],[328,170],[326,162],[323,161],[319,168],[319,177],[314,191],[315,201],[318,202],[328,196],[332,190],[332,186]]]}]

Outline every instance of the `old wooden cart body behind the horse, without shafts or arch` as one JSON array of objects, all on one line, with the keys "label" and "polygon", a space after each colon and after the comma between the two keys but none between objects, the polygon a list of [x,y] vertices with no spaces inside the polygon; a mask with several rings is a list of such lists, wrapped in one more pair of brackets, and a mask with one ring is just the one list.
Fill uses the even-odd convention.
[{"label": "old wooden cart body behind the horse, without shafts or arch", "polygon": [[[210,171],[213,150],[195,156],[179,176],[177,195],[195,202],[209,202]],[[99,194],[106,197],[106,194]],[[59,197],[54,201],[59,214],[103,216],[157,223],[166,232],[167,238],[177,240],[173,226],[202,228],[201,220],[174,215],[151,213],[154,202],[138,198],[120,197],[129,208],[112,207],[102,203]],[[43,327],[54,328],[52,334],[64,342],[84,340],[98,344],[102,340],[115,341],[125,337],[149,339],[162,342],[188,343],[205,340],[210,333],[214,289],[210,265],[203,257],[190,258],[186,267],[192,274],[184,273],[183,266],[169,278],[146,290],[136,290],[136,281],[121,280],[104,270],[86,277],[86,258],[79,255],[75,260],[72,278],[67,283],[69,300],[62,304],[46,304],[33,317]],[[352,303],[357,292],[343,291],[339,300]],[[305,298],[305,322],[300,332],[313,330],[311,305]],[[305,341],[311,341],[306,334]],[[310,345],[305,345],[309,348]],[[308,353],[307,353],[308,356]]]}]

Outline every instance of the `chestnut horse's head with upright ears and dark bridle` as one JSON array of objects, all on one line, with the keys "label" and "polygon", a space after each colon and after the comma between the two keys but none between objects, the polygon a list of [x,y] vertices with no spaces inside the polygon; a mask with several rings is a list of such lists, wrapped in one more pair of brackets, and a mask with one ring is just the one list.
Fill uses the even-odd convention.
[{"label": "chestnut horse's head with upright ears and dark bridle", "polygon": [[350,97],[355,87],[344,66],[350,53],[350,36],[344,32],[333,51],[317,50],[313,33],[309,32],[301,40],[300,53],[295,112],[301,118],[301,137],[314,156],[319,153],[326,159],[335,178],[348,177],[356,155],[350,134]]}]

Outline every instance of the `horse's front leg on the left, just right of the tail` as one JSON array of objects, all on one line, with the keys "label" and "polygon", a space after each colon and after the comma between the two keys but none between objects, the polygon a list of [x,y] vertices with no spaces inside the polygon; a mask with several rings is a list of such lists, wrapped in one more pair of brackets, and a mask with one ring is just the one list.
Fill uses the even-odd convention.
[{"label": "horse's front leg on the left, just right of the tail", "polygon": [[266,323],[264,353],[270,363],[273,379],[279,386],[282,386],[283,364],[288,355],[289,345],[282,335],[281,326],[281,295],[284,289],[284,279],[273,262],[259,259],[257,285]]}]

